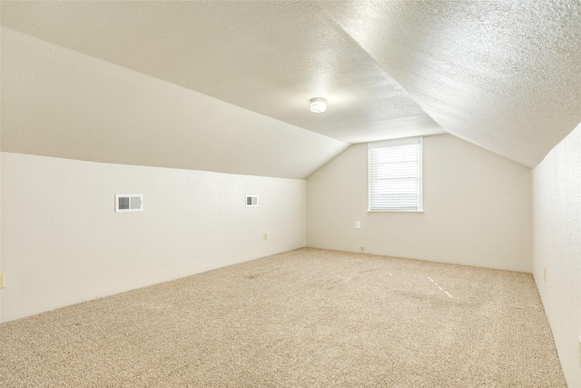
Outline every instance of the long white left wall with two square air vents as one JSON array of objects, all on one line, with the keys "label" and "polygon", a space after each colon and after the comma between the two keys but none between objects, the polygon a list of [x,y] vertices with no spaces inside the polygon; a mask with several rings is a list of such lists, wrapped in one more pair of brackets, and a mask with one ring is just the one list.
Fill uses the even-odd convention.
[{"label": "long white left wall with two square air vents", "polygon": [[304,180],[3,153],[1,198],[2,322],[305,245]]}]

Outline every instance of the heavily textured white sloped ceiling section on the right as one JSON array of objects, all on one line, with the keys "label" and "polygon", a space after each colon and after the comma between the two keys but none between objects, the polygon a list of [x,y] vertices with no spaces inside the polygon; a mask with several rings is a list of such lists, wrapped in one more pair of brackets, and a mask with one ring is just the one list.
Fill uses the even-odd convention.
[{"label": "heavily textured white sloped ceiling section on the right", "polygon": [[322,2],[448,133],[528,167],[581,121],[581,2]]}]

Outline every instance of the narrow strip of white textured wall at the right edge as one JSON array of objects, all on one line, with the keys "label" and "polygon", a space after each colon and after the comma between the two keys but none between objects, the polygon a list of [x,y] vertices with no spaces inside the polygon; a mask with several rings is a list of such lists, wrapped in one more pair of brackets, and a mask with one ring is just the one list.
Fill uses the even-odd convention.
[{"label": "narrow strip of white textured wall at the right edge", "polygon": [[581,124],[533,170],[533,267],[567,384],[581,387]]}]

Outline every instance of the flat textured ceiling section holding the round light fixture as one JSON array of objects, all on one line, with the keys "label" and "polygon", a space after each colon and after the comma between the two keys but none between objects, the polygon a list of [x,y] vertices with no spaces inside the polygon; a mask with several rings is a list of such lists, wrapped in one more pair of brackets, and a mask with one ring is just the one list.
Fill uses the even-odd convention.
[{"label": "flat textured ceiling section holding the round light fixture", "polygon": [[[443,131],[310,2],[18,2],[2,24],[349,143]],[[329,110],[311,114],[312,97]]]}]

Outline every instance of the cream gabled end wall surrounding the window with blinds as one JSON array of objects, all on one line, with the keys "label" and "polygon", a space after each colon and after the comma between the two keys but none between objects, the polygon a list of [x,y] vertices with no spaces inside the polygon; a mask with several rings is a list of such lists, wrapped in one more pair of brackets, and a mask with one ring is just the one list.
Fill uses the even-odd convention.
[{"label": "cream gabled end wall surrounding the window with blinds", "polygon": [[423,147],[421,214],[367,212],[367,144],[310,175],[307,245],[531,272],[530,170],[449,134]]}]

